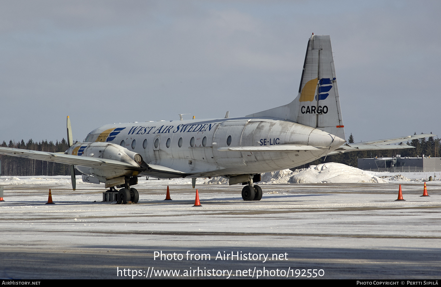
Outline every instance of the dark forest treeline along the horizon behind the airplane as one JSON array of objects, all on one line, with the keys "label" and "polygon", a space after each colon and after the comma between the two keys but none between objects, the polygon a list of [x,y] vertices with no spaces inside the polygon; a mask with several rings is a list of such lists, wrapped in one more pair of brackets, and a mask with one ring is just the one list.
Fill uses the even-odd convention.
[{"label": "dark forest treeline along the horizon behind the airplane", "polygon": [[[416,134],[416,133],[415,133]],[[380,151],[351,151],[338,155],[329,155],[319,158],[314,162],[310,162],[300,167],[308,167],[310,165],[318,165],[324,162],[339,162],[348,166],[357,167],[358,158],[373,158],[373,157],[393,157],[397,154],[401,157],[440,157],[441,155],[441,139],[435,139],[433,136],[425,139],[412,140],[408,145],[415,148],[408,148],[403,150],[380,150]],[[354,143],[352,134],[349,136],[349,143]],[[13,147],[19,149],[33,150],[33,151],[48,151],[48,152],[64,152],[67,150],[67,141],[63,138],[61,141],[42,140],[41,142],[34,142],[32,139],[26,143],[21,140],[15,143],[12,140],[7,144],[5,141],[1,144],[2,147]],[[78,171],[76,172],[78,174]],[[39,176],[39,175],[70,175],[69,165],[55,162],[46,162],[36,159],[19,158],[13,156],[1,155],[1,175],[3,176]]]}]

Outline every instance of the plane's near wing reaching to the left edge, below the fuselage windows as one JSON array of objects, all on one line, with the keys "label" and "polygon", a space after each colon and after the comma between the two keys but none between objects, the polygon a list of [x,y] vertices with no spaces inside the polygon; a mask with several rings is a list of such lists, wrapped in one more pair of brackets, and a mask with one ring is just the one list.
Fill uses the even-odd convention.
[{"label": "plane's near wing reaching to the left edge, below the fuselage windows", "polygon": [[170,169],[165,166],[146,165],[135,166],[127,162],[120,162],[114,159],[93,158],[78,155],[66,155],[64,153],[54,153],[45,151],[30,151],[18,148],[0,147],[0,155],[10,155],[22,158],[32,158],[43,160],[47,162],[65,163],[74,166],[86,166],[96,169],[120,169],[120,170],[136,170],[143,175],[150,175],[152,177],[170,177],[171,175],[185,177],[187,173],[179,170]]}]

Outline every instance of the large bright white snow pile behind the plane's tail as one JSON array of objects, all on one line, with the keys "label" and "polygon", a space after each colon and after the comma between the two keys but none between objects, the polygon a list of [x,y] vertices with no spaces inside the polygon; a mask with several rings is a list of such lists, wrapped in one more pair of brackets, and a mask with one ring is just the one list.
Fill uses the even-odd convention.
[{"label": "large bright white snow pile behind the plane's tail", "polygon": [[318,166],[310,166],[299,170],[290,180],[290,183],[387,183],[379,177],[366,173],[361,169],[347,166],[341,163],[329,162]]}]

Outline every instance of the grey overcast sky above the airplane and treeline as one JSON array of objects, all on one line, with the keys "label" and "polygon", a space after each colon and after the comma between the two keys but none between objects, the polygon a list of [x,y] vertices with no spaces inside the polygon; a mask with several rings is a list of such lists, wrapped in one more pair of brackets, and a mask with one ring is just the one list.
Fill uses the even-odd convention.
[{"label": "grey overcast sky above the airplane and treeline", "polygon": [[244,116],[297,96],[330,35],[347,138],[441,135],[441,1],[0,2],[0,140]]}]

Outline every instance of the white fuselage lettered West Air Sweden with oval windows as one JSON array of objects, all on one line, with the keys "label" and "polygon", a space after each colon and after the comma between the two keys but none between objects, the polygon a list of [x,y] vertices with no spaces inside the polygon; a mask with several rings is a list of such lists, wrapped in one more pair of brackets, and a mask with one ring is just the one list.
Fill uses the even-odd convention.
[{"label": "white fuselage lettered West Air Sweden with oval windows", "polygon": [[[223,118],[103,125],[90,132],[85,142],[120,144],[142,155],[148,164],[209,177],[292,168],[326,155],[340,147],[344,140],[292,121]],[[327,148],[289,152],[218,151],[220,147],[281,144]]]}]

